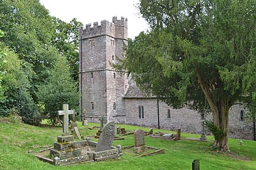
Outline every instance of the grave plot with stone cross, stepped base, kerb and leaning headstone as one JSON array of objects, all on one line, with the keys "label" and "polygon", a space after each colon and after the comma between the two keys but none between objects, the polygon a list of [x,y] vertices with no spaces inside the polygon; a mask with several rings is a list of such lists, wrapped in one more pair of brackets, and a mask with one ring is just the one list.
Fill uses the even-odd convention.
[{"label": "grave plot with stone cross, stepped base, kerb and leaning headstone", "polygon": [[[40,160],[54,166],[66,166],[81,162],[120,158],[123,155],[120,145],[112,146],[113,137],[115,137],[115,123],[113,121],[102,128],[99,143],[90,141],[90,138],[87,138],[86,141],[74,141],[74,135],[69,135],[68,133],[68,114],[72,114],[72,111],[68,111],[68,105],[63,105],[63,111],[58,111],[58,114],[64,116],[63,133],[54,142],[54,147],[35,153]],[[76,128],[74,127],[75,130]],[[49,155],[53,159],[48,158]]]}]

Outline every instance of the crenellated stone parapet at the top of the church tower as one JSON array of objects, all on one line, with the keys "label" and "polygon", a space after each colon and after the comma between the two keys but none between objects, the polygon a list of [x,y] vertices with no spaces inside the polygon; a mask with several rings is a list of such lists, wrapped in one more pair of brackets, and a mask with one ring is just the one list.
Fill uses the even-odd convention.
[{"label": "crenellated stone parapet at the top of the church tower", "polygon": [[102,20],[100,25],[98,22],[93,22],[93,27],[92,24],[86,24],[85,28],[81,26],[79,27],[79,36],[84,39],[100,35],[109,35],[127,40],[127,19],[121,17],[121,19],[118,20],[117,17],[113,17],[112,21],[113,22]]}]

